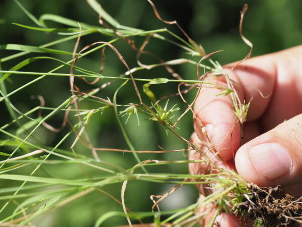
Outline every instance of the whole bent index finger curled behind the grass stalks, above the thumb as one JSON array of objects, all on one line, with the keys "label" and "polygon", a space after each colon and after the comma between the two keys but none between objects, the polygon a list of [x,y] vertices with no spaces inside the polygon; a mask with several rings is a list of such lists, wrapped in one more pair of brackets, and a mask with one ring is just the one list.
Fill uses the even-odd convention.
[{"label": "whole bent index finger curled behind the grass stalks, above the thumb", "polygon": [[[287,50],[288,51],[288,50]],[[247,121],[258,119],[267,108],[276,80],[276,56],[279,54],[266,54],[249,59],[237,66],[229,74],[233,81],[241,103],[251,101]],[[232,66],[226,66],[226,69]],[[210,76],[206,78],[212,83],[227,86],[225,76]],[[194,129],[203,138],[203,127],[224,160],[235,156],[241,143],[241,126],[234,113],[234,104],[231,95],[219,95],[221,90],[215,87],[203,87],[196,99],[194,113]],[[264,98],[263,96],[269,96]]]}]

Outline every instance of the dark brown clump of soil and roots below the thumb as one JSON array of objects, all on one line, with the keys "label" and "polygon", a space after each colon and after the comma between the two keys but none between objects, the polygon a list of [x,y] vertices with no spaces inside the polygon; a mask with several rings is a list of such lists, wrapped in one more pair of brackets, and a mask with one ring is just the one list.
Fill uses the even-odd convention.
[{"label": "dark brown clump of soil and roots below the thumb", "polygon": [[250,185],[245,201],[238,204],[236,214],[247,214],[256,226],[301,226],[302,197],[299,199],[275,188]]}]

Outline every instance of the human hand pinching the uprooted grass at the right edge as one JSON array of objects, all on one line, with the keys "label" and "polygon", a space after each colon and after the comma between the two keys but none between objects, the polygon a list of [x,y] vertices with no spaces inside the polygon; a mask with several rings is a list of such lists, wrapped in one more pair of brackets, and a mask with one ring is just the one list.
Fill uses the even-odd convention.
[{"label": "human hand pinching the uprooted grass at the right edge", "polygon": [[[215,96],[221,90],[202,88],[194,113],[211,144],[246,181],[263,187],[281,185],[293,196],[302,196],[302,46],[249,59],[229,76],[242,102],[253,98],[243,127],[243,145],[230,95]],[[226,86],[223,78],[213,80]],[[200,122],[194,121],[191,142],[204,150]],[[199,153],[191,152],[190,159],[200,159]],[[191,174],[207,171],[204,164],[191,163],[189,168]],[[217,221],[221,227],[244,225],[229,214]]]}]

